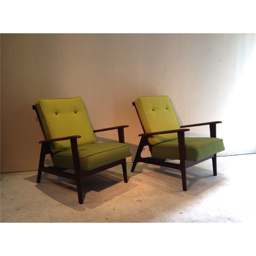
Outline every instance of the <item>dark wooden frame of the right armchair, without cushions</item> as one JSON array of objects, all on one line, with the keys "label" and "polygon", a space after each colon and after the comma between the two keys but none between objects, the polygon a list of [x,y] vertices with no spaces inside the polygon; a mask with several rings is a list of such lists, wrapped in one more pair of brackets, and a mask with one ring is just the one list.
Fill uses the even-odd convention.
[{"label": "dark wooden frame of the right armchair, without cushions", "polygon": [[[136,105],[134,102],[132,102],[132,105],[135,107],[137,115],[140,120],[141,127],[143,129],[144,133],[139,134],[138,136],[141,137],[140,143],[137,149],[136,156],[134,158],[133,164],[132,164],[132,169],[131,172],[134,172],[134,169],[136,167],[136,164],[138,162],[146,163],[146,164],[154,164],[154,165],[159,165],[163,167],[168,167],[168,168],[173,168],[180,170],[181,172],[181,179],[182,179],[182,188],[183,191],[187,191],[187,175],[186,175],[186,169],[188,167],[191,167],[193,165],[199,164],[201,162],[204,162],[208,159],[212,159],[212,167],[213,167],[213,175],[217,176],[217,155],[214,154],[212,156],[208,156],[204,159],[201,159],[199,161],[188,161],[186,160],[186,147],[185,147],[185,132],[190,131],[187,127],[193,127],[193,126],[201,126],[201,125],[209,125],[210,126],[210,136],[212,138],[216,138],[216,124],[222,123],[221,121],[215,121],[215,122],[207,122],[207,123],[200,123],[200,124],[189,124],[189,125],[180,125],[181,129],[177,130],[169,130],[169,131],[159,131],[159,132],[145,132],[144,126],[141,122],[140,115],[138,112],[138,109],[136,108]],[[180,154],[180,163],[175,164],[175,163],[170,163],[170,162],[165,162],[166,159],[159,159],[159,158],[153,158],[153,157],[142,157],[141,152],[145,146],[149,147],[150,153],[152,154],[152,145],[148,142],[148,137],[152,135],[157,135],[157,134],[166,134],[166,133],[178,133],[178,143],[179,143],[179,154]]]}]

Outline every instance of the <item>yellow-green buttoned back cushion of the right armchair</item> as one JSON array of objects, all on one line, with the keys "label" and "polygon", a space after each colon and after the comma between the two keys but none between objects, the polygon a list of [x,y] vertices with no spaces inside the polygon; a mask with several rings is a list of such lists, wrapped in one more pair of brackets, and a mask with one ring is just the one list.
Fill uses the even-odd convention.
[{"label": "yellow-green buttoned back cushion of the right armchair", "polygon": [[[180,124],[168,96],[139,97],[134,101],[144,132],[160,132],[180,129]],[[178,138],[177,133],[153,135],[151,145]]]}]

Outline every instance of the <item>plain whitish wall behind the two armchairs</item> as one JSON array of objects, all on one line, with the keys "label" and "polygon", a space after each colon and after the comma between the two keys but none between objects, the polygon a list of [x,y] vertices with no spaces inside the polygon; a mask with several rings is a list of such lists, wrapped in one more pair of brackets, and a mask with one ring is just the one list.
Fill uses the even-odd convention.
[{"label": "plain whitish wall behind the two armchairs", "polygon": [[1,34],[1,172],[37,168],[41,98],[81,96],[94,129],[130,125],[134,157],[142,129],[132,101],[168,95],[180,124],[223,122],[221,155],[255,153],[255,70],[255,34]]}]

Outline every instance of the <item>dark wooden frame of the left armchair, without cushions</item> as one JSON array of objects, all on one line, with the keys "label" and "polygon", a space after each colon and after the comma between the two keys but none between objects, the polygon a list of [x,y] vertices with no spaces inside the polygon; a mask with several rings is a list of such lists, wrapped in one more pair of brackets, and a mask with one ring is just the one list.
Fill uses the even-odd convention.
[{"label": "dark wooden frame of the left armchair, without cushions", "polygon": [[[53,175],[64,177],[64,178],[67,178],[67,179],[70,179],[70,180],[74,180],[76,182],[76,187],[77,187],[78,202],[79,202],[79,204],[83,204],[84,200],[83,200],[83,190],[82,190],[82,181],[81,180],[85,177],[91,176],[93,174],[96,174],[98,172],[102,172],[104,170],[107,170],[109,168],[112,168],[116,165],[121,164],[122,168],[123,168],[124,182],[125,183],[128,182],[127,169],[126,169],[126,158],[115,161],[115,162],[110,163],[110,164],[103,165],[101,167],[95,168],[95,169],[90,170],[90,171],[80,170],[77,139],[81,138],[81,136],[80,135],[73,135],[73,136],[68,136],[68,137],[61,137],[61,138],[55,138],[55,139],[48,139],[47,140],[46,136],[45,136],[45,133],[44,133],[44,129],[43,129],[43,125],[42,125],[40,116],[39,116],[37,108],[36,108],[36,105],[33,105],[32,108],[34,110],[36,110],[36,115],[38,117],[40,126],[41,126],[43,134],[44,134],[44,138],[45,138],[45,140],[39,141],[39,143],[41,143],[42,146],[41,146],[38,173],[37,173],[37,179],[36,179],[37,183],[40,183],[42,172],[46,172],[46,173],[50,173],[50,174],[53,174]],[[103,131],[109,131],[109,130],[117,129],[119,142],[120,143],[125,143],[124,142],[124,128],[126,128],[126,127],[129,127],[129,125],[120,125],[120,126],[115,126],[115,127],[99,129],[99,130],[93,130],[93,132],[95,133],[95,132],[103,132]],[[52,161],[53,161],[53,153],[50,149],[49,143],[53,142],[53,141],[60,141],[60,140],[70,140],[71,150],[72,150],[72,157],[73,157],[73,164],[74,164],[74,170],[75,170],[74,173],[65,172],[65,170],[70,170],[70,169],[58,168],[58,167],[53,167],[53,166],[48,166],[48,167],[44,166],[44,160],[45,160],[45,156],[47,154],[51,155]]]}]

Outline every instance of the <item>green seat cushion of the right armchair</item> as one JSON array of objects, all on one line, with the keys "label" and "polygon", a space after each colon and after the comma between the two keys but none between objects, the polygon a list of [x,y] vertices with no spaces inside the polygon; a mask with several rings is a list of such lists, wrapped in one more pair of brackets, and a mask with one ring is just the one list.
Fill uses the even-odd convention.
[{"label": "green seat cushion of the right armchair", "polygon": [[[219,138],[185,138],[186,160],[199,161],[225,150],[223,140]],[[180,159],[178,139],[158,143],[152,147],[152,157]]]}]

